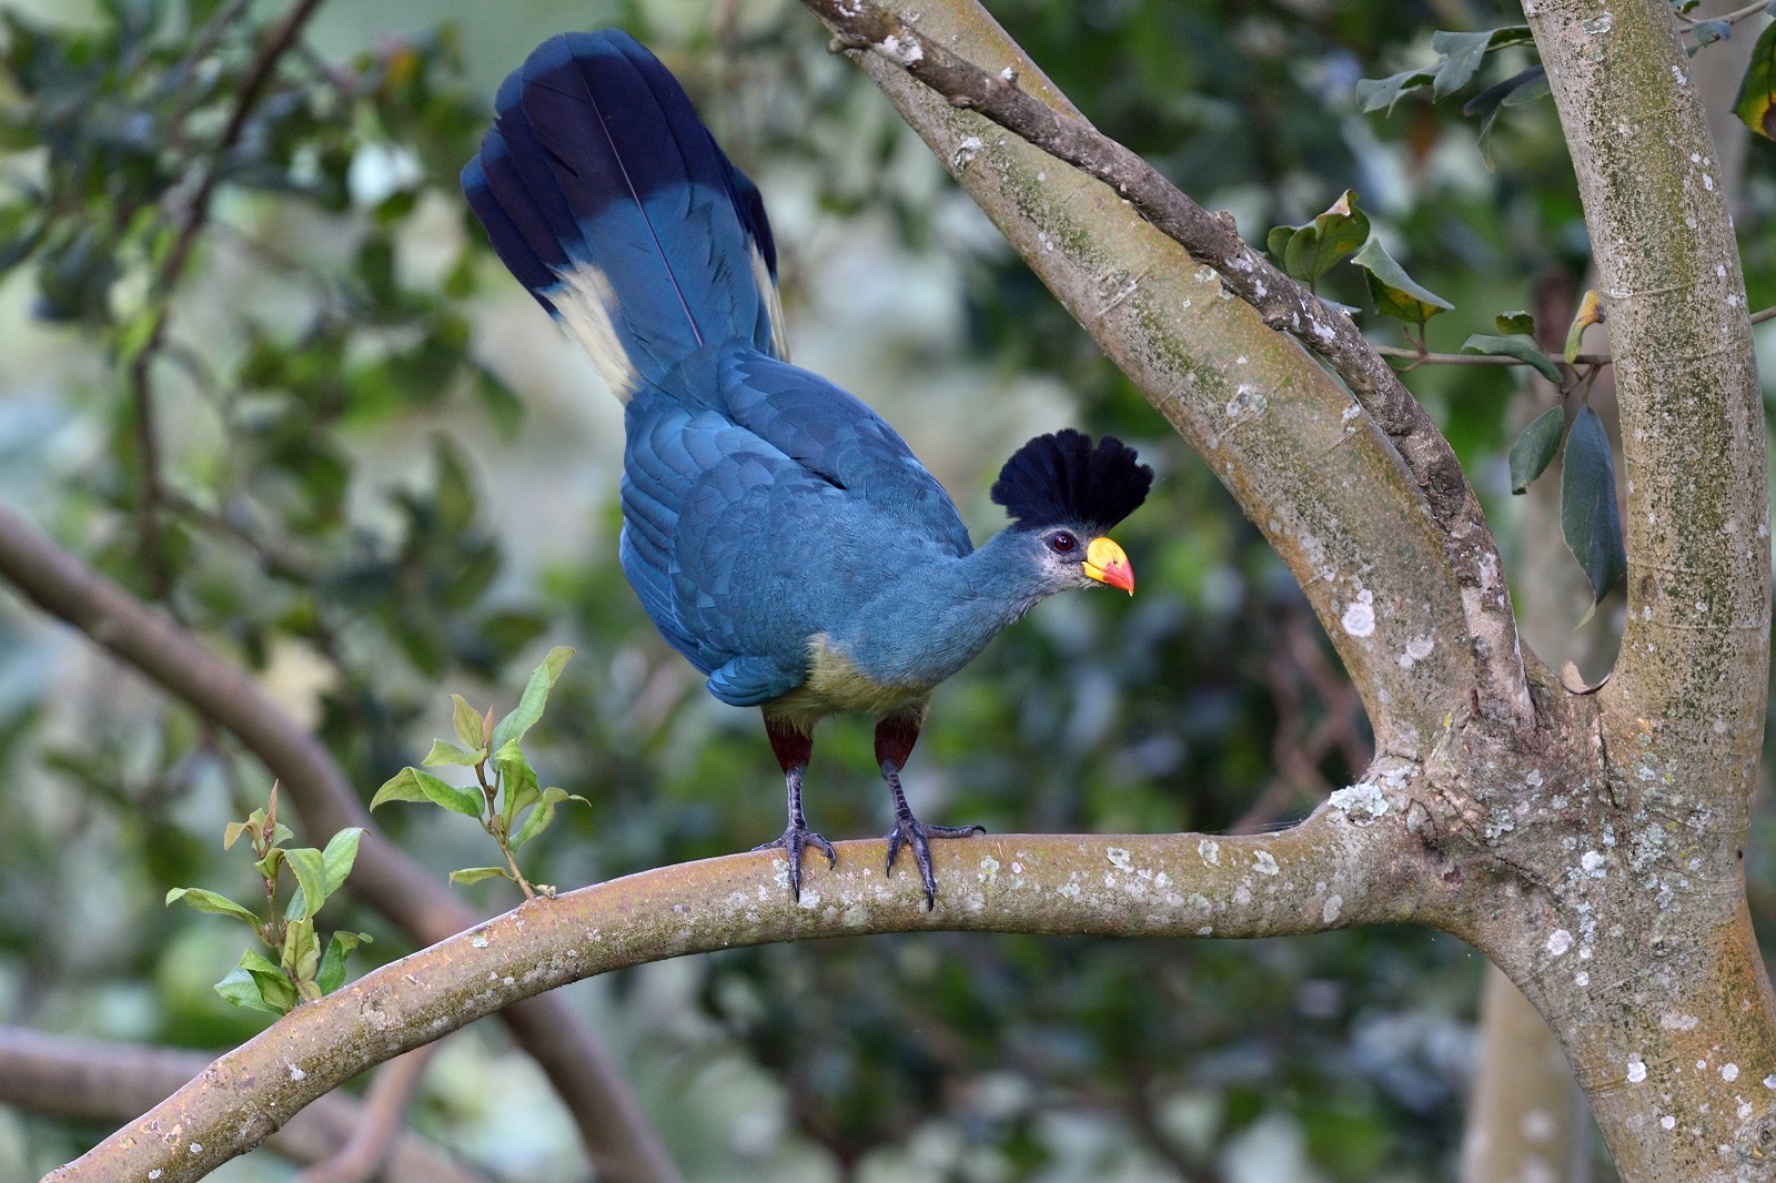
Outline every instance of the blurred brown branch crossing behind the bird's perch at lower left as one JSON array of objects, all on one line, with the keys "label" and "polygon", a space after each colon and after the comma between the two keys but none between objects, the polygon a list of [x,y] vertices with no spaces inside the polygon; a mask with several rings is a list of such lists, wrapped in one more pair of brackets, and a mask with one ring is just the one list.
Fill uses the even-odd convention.
[{"label": "blurred brown branch crossing behind the bird's perch at lower left", "polygon": [[[332,755],[252,679],[4,508],[0,576],[233,732],[282,782],[305,833],[325,840],[346,826],[362,826],[348,886],[366,904],[421,943],[440,941],[476,922],[448,886],[382,835]],[[572,1110],[600,1176],[643,1183],[678,1178],[611,1055],[565,1000],[538,998],[515,1007],[506,1023]]]}]

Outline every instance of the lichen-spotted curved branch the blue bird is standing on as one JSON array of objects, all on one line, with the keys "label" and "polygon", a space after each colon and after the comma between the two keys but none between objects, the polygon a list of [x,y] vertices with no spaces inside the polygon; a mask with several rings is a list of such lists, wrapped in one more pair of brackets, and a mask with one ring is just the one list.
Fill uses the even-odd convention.
[{"label": "lichen-spotted curved branch the blue bird is standing on", "polygon": [[197,1179],[371,1064],[519,998],[684,954],[868,933],[1282,936],[1401,920],[1440,890],[1419,874],[1426,861],[1403,822],[1401,792],[1385,790],[1380,817],[1325,806],[1293,830],[1252,838],[945,842],[932,851],[932,911],[918,876],[881,874],[881,840],[840,842],[838,869],[815,867],[799,902],[769,851],[527,901],[297,1007],[44,1183],[151,1171],[160,1183]]}]

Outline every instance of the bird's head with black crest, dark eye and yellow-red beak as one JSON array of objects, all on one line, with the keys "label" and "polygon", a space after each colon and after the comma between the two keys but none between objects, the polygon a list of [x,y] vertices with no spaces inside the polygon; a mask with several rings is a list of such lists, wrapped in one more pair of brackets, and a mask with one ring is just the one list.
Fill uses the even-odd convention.
[{"label": "bird's head with black crest, dark eye and yellow-red beak", "polygon": [[1055,590],[1101,583],[1135,595],[1135,568],[1106,531],[1133,513],[1153,487],[1153,469],[1115,437],[1092,446],[1071,428],[1037,435],[1019,448],[993,501],[1011,513],[1011,529],[1051,574]]}]

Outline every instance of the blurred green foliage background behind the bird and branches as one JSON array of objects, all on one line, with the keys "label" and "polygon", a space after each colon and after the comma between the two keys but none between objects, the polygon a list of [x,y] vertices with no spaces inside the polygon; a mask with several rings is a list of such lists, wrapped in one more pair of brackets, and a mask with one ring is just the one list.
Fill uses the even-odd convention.
[{"label": "blurred green foliage background behind the bird and branches", "polygon": [[[0,5],[0,341],[32,341],[34,364],[85,359],[37,377],[0,357],[0,483],[307,711],[366,799],[449,725],[446,689],[504,711],[545,639],[577,647],[529,742],[538,773],[590,808],[563,810],[526,847],[542,881],[774,837],[783,785],[757,716],[703,695],[616,570],[614,446],[563,455],[561,439],[595,432],[554,387],[607,396],[586,371],[527,357],[540,336],[522,334],[547,325],[456,195],[488,117],[464,43],[435,23],[462,12],[389,7],[430,30],[366,37],[337,60],[298,41],[242,112],[275,11],[103,0],[69,25]],[[1439,20],[1508,23],[1483,9],[1440,5]],[[1431,348],[1494,332],[1495,313],[1531,302],[1526,277],[1582,272],[1547,103],[1492,112],[1490,171],[1479,119],[1455,99],[1359,108],[1357,80],[1437,60],[1421,5],[1007,0],[995,14],[1087,117],[1231,208],[1252,242],[1360,194],[1391,256],[1456,306],[1428,323]],[[511,5],[511,20],[540,39],[561,16]],[[1140,595],[1055,600],[943,687],[909,773],[922,815],[993,831],[1224,830],[1280,824],[1353,778],[1368,734],[1257,531],[799,7],[636,0],[572,20],[620,21],[654,44],[760,178],[794,322],[854,330],[817,307],[822,284],[849,256],[895,259],[961,288],[947,334],[884,318],[906,391],[961,373],[955,389],[979,403],[948,414],[979,419],[1032,385],[1060,389],[1062,414],[1137,441],[1162,469],[1124,526]],[[1524,46],[1501,48],[1472,85],[1527,66]],[[1776,185],[1756,174],[1746,192],[1753,298],[1769,302]],[[188,231],[192,258],[169,275]],[[1320,286],[1368,304],[1355,268]],[[929,290],[865,295],[900,307]],[[46,322],[60,336],[41,336]],[[162,449],[153,481],[135,369]],[[1522,375],[1412,380],[1488,508],[1508,501],[1506,405]],[[861,393],[904,426],[915,414],[900,391]],[[998,451],[952,458],[977,528],[995,524],[975,510],[1003,455],[1055,426],[1053,401],[1016,405]],[[265,771],[12,602],[0,753],[0,1020],[204,1048],[250,1034],[210,993],[238,945],[160,899],[185,885],[250,893],[215,835],[263,799]],[[822,730],[808,808],[831,837],[881,833],[863,723]],[[460,819],[433,814],[377,817],[439,874],[485,858],[448,826]],[[1776,904],[1769,881],[1753,867],[1762,911]],[[464,890],[515,902],[506,883]],[[361,959],[408,947],[348,901],[337,924],[375,933]],[[1419,929],[908,936],[652,966],[575,998],[693,1178],[1217,1179],[1268,1162],[1284,1163],[1277,1179],[1407,1181],[1451,1174],[1478,970]],[[568,1178],[570,1135],[501,1108],[481,1080],[508,1053],[497,1034],[478,1039],[458,1075],[440,1060],[416,1121],[497,1178]],[[43,1171],[99,1133],[0,1121],[0,1167]],[[249,1163],[231,1178],[281,1176]]]}]

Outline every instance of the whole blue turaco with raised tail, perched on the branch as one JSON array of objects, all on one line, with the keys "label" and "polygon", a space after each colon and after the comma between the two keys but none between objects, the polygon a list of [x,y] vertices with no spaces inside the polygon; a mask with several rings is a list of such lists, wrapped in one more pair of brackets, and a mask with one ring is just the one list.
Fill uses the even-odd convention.
[{"label": "whole blue turaco with raised tail, perched on the branch", "polygon": [[623,32],[565,34],[506,78],[462,187],[494,250],[591,355],[625,407],[620,561],[709,693],[760,707],[789,787],[781,847],[799,899],[813,725],[876,716],[893,792],[888,872],[911,847],[936,906],[927,826],[900,789],[932,689],[1000,629],[1069,588],[1135,592],[1105,536],[1153,469],[1105,437],[1041,435],[975,549],[954,503],[867,405],[789,364],[758,188],[659,59]]}]

